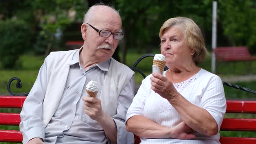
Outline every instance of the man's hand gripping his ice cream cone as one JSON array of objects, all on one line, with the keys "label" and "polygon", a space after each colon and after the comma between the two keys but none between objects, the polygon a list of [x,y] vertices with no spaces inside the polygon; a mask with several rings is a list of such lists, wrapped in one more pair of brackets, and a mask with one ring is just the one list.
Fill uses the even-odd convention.
[{"label": "man's hand gripping his ice cream cone", "polygon": [[104,112],[102,110],[101,100],[93,97],[83,97],[85,114],[88,115],[95,121],[100,121],[104,117]]}]

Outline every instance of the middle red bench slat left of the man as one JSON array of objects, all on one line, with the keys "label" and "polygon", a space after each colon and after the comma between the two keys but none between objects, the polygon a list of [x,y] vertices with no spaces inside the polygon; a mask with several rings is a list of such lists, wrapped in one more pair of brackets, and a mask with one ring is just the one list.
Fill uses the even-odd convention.
[{"label": "middle red bench slat left of the man", "polygon": [[0,124],[2,125],[19,125],[20,114],[19,113],[0,113]]}]

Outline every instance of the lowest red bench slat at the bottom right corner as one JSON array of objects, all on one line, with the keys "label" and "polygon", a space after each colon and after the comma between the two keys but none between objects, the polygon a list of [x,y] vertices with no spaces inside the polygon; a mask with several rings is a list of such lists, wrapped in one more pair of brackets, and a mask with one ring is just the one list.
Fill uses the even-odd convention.
[{"label": "lowest red bench slat at the bottom right corner", "polygon": [[249,137],[220,137],[221,144],[256,144],[256,138]]}]

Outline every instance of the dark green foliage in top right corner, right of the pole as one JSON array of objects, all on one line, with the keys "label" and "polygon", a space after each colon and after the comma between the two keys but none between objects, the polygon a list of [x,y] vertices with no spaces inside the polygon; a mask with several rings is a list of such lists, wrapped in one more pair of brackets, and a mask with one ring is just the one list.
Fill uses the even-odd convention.
[{"label": "dark green foliage in top right corner, right of the pole", "polygon": [[223,34],[233,46],[248,46],[256,53],[256,3],[253,0],[219,0]]}]

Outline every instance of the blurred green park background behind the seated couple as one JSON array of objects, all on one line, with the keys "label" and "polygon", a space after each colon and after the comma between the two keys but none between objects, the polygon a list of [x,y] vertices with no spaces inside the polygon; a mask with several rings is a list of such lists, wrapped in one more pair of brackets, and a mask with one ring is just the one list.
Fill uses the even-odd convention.
[{"label": "blurred green park background behind the seated couple", "polygon": [[[212,52],[213,0],[0,0],[0,95],[10,95],[7,82],[12,77],[19,77],[23,83],[21,89],[13,84],[13,92],[29,92],[49,52],[80,48],[83,15],[98,2],[120,10],[125,39],[119,42],[113,57],[128,66],[146,53],[160,53],[160,27],[176,16],[193,19]],[[217,0],[219,46],[247,46],[256,56],[256,0]],[[146,58],[138,68],[148,75],[151,65],[152,58]],[[211,72],[211,57],[200,66]],[[256,60],[217,62],[215,73],[226,82],[256,90]],[[142,79],[135,74],[137,86]],[[256,99],[255,94],[224,88],[227,99]],[[246,132],[238,135],[243,134]],[[253,132],[247,135],[256,137]]]}]

